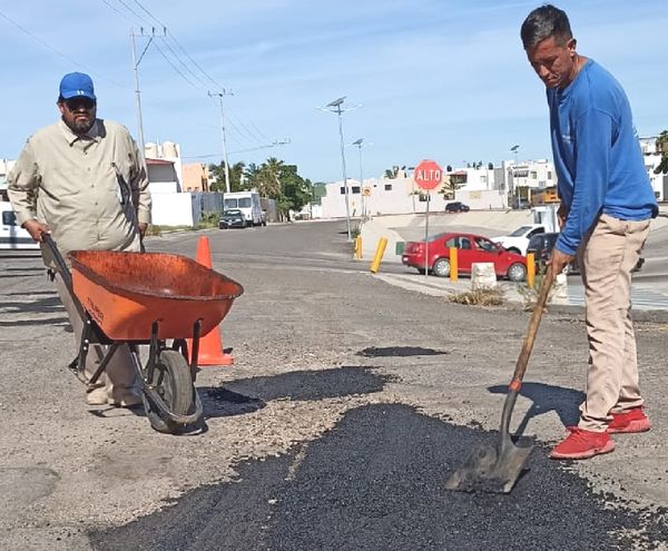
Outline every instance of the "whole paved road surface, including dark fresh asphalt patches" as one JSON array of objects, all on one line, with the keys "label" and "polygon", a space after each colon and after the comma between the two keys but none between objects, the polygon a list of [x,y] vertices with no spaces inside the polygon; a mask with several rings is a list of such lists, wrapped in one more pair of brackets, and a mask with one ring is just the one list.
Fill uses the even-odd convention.
[{"label": "whole paved road surface, including dark fresh asphalt patches", "polygon": [[147,242],[194,257],[207,235],[214,268],[245,287],[223,322],[235,366],[198,374],[208,430],[181,437],[85,405],[39,260],[3,258],[0,548],[665,549],[666,324],[637,325],[652,431],[563,464],[546,455],[577,420],[587,343],[580,316],[546,315],[513,422],[538,444],[530,471],[507,496],[450,493],[450,470],[494,441],[529,315],[386,285],[344,232]]}]

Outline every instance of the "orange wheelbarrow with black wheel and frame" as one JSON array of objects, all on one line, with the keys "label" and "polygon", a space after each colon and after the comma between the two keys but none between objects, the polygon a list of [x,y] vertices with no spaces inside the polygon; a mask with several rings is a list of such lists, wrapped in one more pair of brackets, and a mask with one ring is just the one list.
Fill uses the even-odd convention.
[{"label": "orange wheelbarrow with black wheel and frame", "polygon": [[[203,407],[194,385],[199,337],[216,331],[244,293],[242,285],[190,258],[165,253],[73,250],[68,255],[70,272],[53,239],[46,235],[45,243],[86,322],[70,364],[75,374],[95,385],[118,347],[127,344],[151,426],[177,434],[199,424]],[[87,378],[90,344],[107,345],[107,351]],[[149,346],[146,365],[139,345]]]}]

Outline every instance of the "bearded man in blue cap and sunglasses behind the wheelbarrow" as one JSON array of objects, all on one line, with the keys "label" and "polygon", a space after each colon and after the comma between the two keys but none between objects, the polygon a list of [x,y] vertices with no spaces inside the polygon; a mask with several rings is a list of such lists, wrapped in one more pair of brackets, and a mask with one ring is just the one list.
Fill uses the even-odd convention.
[{"label": "bearded man in blue cap and sunglasses behind the wheelbarrow", "polygon": [[[8,177],[8,195],[19,224],[36,242],[50,234],[63,257],[70,250],[140,250],[150,223],[150,194],[143,157],[121,125],[98,119],[97,98],[88,75],[70,72],[60,81],[61,119],[28,139]],[[53,260],[42,245],[47,266]],[[81,319],[72,297],[56,275],[58,294],[77,338]],[[102,358],[91,346],[86,373]],[[121,346],[111,357],[104,383],[88,388],[90,405],[132,406],[141,403],[130,351]]]}]

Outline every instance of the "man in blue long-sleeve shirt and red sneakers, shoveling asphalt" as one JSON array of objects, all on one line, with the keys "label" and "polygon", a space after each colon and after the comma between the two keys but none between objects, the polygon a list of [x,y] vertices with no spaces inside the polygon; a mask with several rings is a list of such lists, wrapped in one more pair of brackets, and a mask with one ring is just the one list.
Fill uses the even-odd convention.
[{"label": "man in blue long-sleeve shirt and red sneakers, shoveling asphalt", "polygon": [[576,51],[567,14],[550,4],[533,10],[521,38],[550,108],[561,199],[551,264],[558,274],[578,256],[590,351],[580,422],[550,456],[587,459],[615,449],[610,433],[650,427],[638,385],[630,294],[631,270],[658,206],[626,94]]}]

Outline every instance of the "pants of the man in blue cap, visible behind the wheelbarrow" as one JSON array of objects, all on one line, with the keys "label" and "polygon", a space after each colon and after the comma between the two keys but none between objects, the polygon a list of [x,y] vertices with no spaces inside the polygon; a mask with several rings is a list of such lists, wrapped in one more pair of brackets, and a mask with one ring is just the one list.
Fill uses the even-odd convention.
[{"label": "pants of the man in blue cap, visible behind the wheelbarrow", "polygon": [[[56,274],[55,282],[58,289],[58,295],[60,296],[60,301],[62,302],[62,305],[69,315],[70,324],[75,332],[75,340],[77,343],[76,350],[78,354],[85,321],[79,315],[79,312],[77,311],[72,297],[62,278],[60,277],[60,274]],[[97,371],[106,350],[107,346],[99,344],[94,344],[88,350],[88,355],[86,356],[86,375],[88,378],[90,378]],[[102,385],[107,390],[107,394],[115,399],[124,397],[128,394],[128,392],[138,392],[139,381],[132,364],[131,353],[127,344],[119,346],[107,364],[107,368],[105,372],[102,372],[97,386]]]}]

